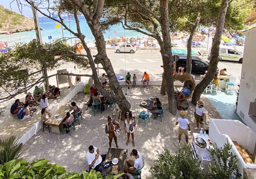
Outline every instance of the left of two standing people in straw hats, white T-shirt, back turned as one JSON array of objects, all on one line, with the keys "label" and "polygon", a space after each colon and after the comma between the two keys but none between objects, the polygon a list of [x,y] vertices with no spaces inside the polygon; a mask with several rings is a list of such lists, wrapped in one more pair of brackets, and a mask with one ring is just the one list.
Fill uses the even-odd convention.
[{"label": "left of two standing people in straw hats, white T-shirt, back turned", "polygon": [[185,135],[186,143],[188,143],[188,130],[190,131],[190,125],[189,125],[188,119],[185,118],[186,115],[187,115],[187,111],[181,111],[180,112],[181,118],[178,118],[177,122],[175,123],[175,125],[178,125],[178,123],[180,123],[179,136],[178,136],[179,143],[180,143],[182,134]]}]

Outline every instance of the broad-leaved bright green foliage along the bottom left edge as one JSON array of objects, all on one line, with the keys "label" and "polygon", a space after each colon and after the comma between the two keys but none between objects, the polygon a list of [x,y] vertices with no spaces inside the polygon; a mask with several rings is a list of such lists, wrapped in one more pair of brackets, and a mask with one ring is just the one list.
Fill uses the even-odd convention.
[{"label": "broad-leaved bright green foliage along the bottom left edge", "polygon": [[[49,164],[50,160],[39,159],[29,163],[25,160],[11,160],[5,164],[0,165],[1,179],[102,179],[101,173],[91,170],[90,173],[82,171],[82,174],[69,173],[63,166],[58,164]],[[117,179],[122,174],[113,176],[109,174],[106,179]]]}]

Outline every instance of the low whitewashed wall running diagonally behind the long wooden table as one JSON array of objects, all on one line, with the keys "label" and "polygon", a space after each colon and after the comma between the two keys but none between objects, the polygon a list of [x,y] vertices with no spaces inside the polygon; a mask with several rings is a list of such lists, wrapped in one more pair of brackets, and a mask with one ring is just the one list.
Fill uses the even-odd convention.
[{"label": "low whitewashed wall running diagonally behind the long wooden table", "polygon": [[[79,84],[73,87],[72,91],[69,92],[63,99],[56,99],[59,100],[59,102],[52,108],[50,111],[52,114],[59,109],[61,105],[67,104],[76,94],[78,94],[80,91],[84,91],[84,84]],[[19,138],[18,143],[25,144],[33,135],[35,135],[40,129],[42,128],[42,122],[41,117],[38,118],[38,122],[34,124],[25,135]]]}]

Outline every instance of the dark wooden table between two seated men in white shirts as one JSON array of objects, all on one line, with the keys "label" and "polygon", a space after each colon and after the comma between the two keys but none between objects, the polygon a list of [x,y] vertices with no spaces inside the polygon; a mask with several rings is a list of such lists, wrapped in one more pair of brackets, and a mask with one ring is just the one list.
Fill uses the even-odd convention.
[{"label": "dark wooden table between two seated men in white shirts", "polygon": [[[110,155],[111,154],[111,155]],[[103,162],[105,164],[106,162],[112,160],[113,158],[118,158],[118,171],[124,171],[126,158],[127,158],[127,149],[121,149],[121,148],[109,148],[108,153],[106,155],[106,159]],[[111,162],[110,162],[111,163]],[[102,176],[106,176],[109,173],[112,172],[113,164],[110,165],[108,168],[102,168]]]}]

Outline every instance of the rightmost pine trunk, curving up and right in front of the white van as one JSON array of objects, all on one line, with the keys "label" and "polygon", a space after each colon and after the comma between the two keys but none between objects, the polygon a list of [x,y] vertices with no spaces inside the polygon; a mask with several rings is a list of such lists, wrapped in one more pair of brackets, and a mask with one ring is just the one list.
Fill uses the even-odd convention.
[{"label": "rightmost pine trunk, curving up and right in front of the white van", "polygon": [[203,93],[204,89],[210,84],[212,81],[219,62],[219,45],[221,44],[221,36],[223,32],[223,27],[225,23],[225,17],[227,12],[227,7],[229,6],[229,0],[222,0],[221,8],[218,15],[216,33],[212,41],[211,48],[211,58],[208,67],[208,71],[203,80],[196,85],[195,90],[192,96],[192,103],[196,105],[196,102],[200,100],[200,96]]}]

